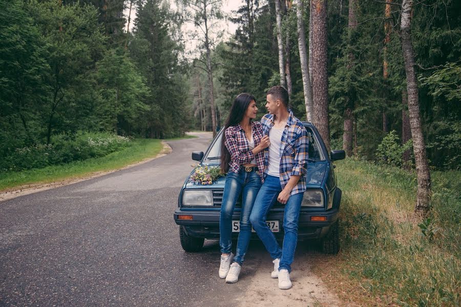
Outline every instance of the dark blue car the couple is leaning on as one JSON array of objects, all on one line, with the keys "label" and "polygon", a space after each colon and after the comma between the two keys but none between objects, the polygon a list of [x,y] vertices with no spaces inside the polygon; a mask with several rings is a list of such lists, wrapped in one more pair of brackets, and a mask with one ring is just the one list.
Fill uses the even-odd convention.
[{"label": "dark blue car the couple is leaning on", "polygon": [[[311,123],[303,122],[309,139],[306,186],[301,204],[298,239],[321,240],[322,250],[327,254],[339,251],[339,211],[341,189],[337,185],[333,161],[345,158],[344,150],[327,152],[319,131]],[[192,159],[200,165],[219,166],[223,129],[213,139],[208,149],[192,152]],[[225,177],[213,184],[197,185],[191,182],[194,170],[186,178],[178,197],[174,220],[179,225],[181,247],[186,252],[203,248],[204,239],[219,239],[219,218]],[[239,232],[241,195],[233,214],[233,238]],[[277,239],[283,238],[284,205],[276,202],[270,208],[266,223]],[[258,239],[253,233],[252,239]]]}]

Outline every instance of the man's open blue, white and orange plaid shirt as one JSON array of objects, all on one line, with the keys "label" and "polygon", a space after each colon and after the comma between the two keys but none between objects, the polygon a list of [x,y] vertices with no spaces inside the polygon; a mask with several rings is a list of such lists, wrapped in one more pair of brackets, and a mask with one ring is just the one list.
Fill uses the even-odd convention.
[{"label": "man's open blue, white and orange plaid shirt", "polygon": [[[296,186],[291,190],[290,195],[295,195],[306,190],[306,168],[309,140],[303,123],[297,119],[293,112],[288,109],[288,119],[282,134],[280,144],[280,184],[285,188],[290,176],[301,176]],[[263,134],[269,135],[269,130],[274,126],[274,115],[266,114],[261,119]],[[264,150],[264,174],[268,172],[269,148]]]}]

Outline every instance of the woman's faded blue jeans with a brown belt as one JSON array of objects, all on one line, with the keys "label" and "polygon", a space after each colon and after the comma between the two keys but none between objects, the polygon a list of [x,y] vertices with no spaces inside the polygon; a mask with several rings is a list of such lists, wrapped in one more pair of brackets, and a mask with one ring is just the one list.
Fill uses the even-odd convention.
[{"label": "woman's faded blue jeans with a brown belt", "polygon": [[242,167],[238,173],[229,171],[222,195],[221,216],[219,219],[219,246],[221,253],[230,253],[232,249],[232,215],[235,203],[242,192],[242,209],[240,211],[240,233],[237,240],[235,262],[242,265],[250,237],[252,224],[249,216],[255,203],[256,195],[261,188],[261,177],[256,171],[245,171]]}]

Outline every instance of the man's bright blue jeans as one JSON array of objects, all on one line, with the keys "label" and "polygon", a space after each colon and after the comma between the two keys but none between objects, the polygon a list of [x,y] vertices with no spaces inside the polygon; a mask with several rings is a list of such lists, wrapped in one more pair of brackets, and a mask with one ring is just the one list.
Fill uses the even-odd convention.
[{"label": "man's bright blue jeans", "polygon": [[279,270],[286,269],[291,272],[291,264],[295,258],[296,244],[298,243],[298,220],[304,192],[291,195],[285,205],[283,215],[283,248],[266,225],[266,215],[269,208],[274,205],[279,193],[282,191],[280,179],[267,176],[256,197],[250,222],[259,238],[273,259],[280,258]]}]

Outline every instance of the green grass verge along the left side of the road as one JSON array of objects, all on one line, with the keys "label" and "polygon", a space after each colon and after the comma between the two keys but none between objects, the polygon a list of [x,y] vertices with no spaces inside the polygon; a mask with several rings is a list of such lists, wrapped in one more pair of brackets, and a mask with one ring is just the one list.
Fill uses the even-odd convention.
[{"label": "green grass verge along the left side of the road", "polygon": [[109,171],[156,156],[162,149],[160,140],[136,139],[121,151],[101,158],[75,161],[40,169],[0,173],[0,190],[34,183],[47,183],[85,177],[98,171]]}]

